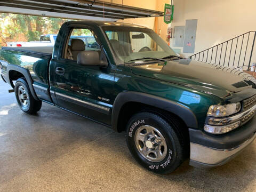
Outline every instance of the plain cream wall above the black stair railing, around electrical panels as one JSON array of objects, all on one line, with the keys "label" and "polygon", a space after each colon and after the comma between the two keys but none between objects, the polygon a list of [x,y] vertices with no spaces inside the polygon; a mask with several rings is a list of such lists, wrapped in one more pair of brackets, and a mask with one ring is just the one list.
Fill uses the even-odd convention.
[{"label": "plain cream wall above the black stair railing, around electrical panels", "polygon": [[[174,0],[171,26],[185,26],[186,19],[198,19],[197,53],[247,31],[256,30],[256,1]],[[172,43],[171,40],[171,47]],[[188,57],[191,54],[184,55]]]}]

